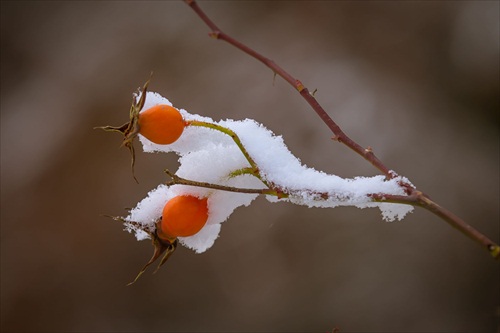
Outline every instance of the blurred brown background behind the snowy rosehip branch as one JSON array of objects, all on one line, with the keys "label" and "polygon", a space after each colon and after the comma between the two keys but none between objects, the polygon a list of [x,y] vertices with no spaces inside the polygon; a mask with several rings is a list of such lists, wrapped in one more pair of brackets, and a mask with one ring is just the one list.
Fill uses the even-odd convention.
[{"label": "blurred brown background behind the snowy rosehip branch", "polygon": [[[203,2],[230,35],[301,79],[353,139],[499,241],[499,3]],[[494,332],[499,264],[427,211],[308,209],[259,198],[202,255],[149,259],[100,214],[166,180],[174,155],[120,137],[151,90],[215,119],[254,118],[308,166],[376,170],[272,72],[182,2],[1,2],[3,331]],[[139,149],[139,145],[136,145]]]}]

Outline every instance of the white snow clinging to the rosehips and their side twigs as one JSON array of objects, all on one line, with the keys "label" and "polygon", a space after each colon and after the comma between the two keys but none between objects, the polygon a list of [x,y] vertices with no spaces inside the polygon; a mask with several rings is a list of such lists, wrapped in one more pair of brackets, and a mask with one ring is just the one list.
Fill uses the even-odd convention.
[{"label": "white snow clinging to the rosehips and their side twigs", "polygon": [[[143,110],[158,104],[172,105],[157,93],[148,92]],[[145,152],[175,152],[180,156],[176,175],[192,181],[245,189],[273,188],[285,195],[266,195],[270,202],[288,201],[308,207],[333,208],[354,206],[378,207],[386,221],[401,220],[413,210],[410,205],[374,202],[369,194],[405,195],[399,185],[406,178],[386,180],[384,176],[344,179],[302,165],[292,155],[280,136],[275,136],[263,125],[251,119],[242,121],[214,120],[180,110],[188,123],[210,123],[234,132],[255,165],[251,165],[241,147],[227,133],[203,126],[186,126],[180,138],[169,145],[155,144],[139,135]],[[258,168],[258,175],[245,170]],[[130,212],[127,230],[135,232],[138,240],[149,238],[144,230],[153,232],[166,202],[178,195],[208,198],[209,217],[196,234],[179,237],[186,247],[201,253],[217,239],[221,223],[240,206],[248,206],[258,194],[235,193],[189,185],[160,185]],[[143,228],[143,229],[141,229]]]}]

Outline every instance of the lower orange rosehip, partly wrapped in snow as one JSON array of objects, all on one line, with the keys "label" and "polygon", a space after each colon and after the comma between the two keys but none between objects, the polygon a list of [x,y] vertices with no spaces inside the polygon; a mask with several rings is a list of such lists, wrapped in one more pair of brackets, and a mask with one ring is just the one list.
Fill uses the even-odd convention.
[{"label": "lower orange rosehip, partly wrapped in snow", "polygon": [[207,222],[207,201],[190,195],[169,200],[163,208],[159,236],[172,240],[196,234]]}]

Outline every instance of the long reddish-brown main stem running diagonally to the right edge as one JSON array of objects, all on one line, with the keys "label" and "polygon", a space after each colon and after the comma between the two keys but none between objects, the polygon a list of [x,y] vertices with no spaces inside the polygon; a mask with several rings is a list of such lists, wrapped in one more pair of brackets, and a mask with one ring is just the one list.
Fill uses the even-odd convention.
[{"label": "long reddish-brown main stem running diagonally to the right edge", "polygon": [[[398,175],[388,168],[382,161],[380,161],[375,154],[373,153],[370,147],[363,148],[354,140],[349,138],[344,131],[333,121],[333,119],[326,113],[323,107],[319,104],[316,98],[309,92],[309,90],[300,82],[295,79],[292,75],[286,72],[283,68],[278,66],[274,61],[268,59],[256,52],[252,48],[246,46],[245,44],[237,41],[231,36],[225,34],[223,31],[219,29],[219,27],[205,14],[205,12],[198,6],[195,0],[184,0],[186,4],[188,4],[191,9],[200,17],[203,22],[210,28],[211,32],[209,36],[215,39],[223,40],[234,47],[240,49],[245,52],[252,58],[257,59],[262,62],[265,66],[269,67],[275,75],[279,75],[286,82],[288,82],[292,87],[297,89],[299,94],[306,100],[306,102],[311,106],[311,108],[316,112],[316,114],[321,118],[321,120],[328,126],[328,128],[333,133],[333,139],[343,143],[351,150],[362,156],[365,160],[370,162],[375,168],[380,170],[387,178],[392,179],[397,177]],[[447,209],[439,206],[437,203],[429,199],[427,195],[423,192],[417,191],[411,184],[408,183],[400,183],[402,187],[405,188],[408,196],[383,196],[373,194],[372,198],[375,201],[385,201],[385,202],[393,202],[393,203],[404,203],[411,204],[414,206],[419,206],[425,208],[426,210],[432,212],[437,215],[441,219],[448,222],[454,228],[460,230],[464,235],[471,238],[482,247],[486,248],[486,250],[495,258],[500,259],[500,247],[495,244],[488,237],[484,236],[482,233],[468,225],[461,218],[451,213]]]}]

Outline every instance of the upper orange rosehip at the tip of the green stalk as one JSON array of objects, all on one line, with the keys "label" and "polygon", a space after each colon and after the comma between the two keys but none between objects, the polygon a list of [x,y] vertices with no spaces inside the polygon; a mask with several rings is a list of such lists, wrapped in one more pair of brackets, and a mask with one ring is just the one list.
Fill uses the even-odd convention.
[{"label": "upper orange rosehip at the tip of the green stalk", "polygon": [[156,144],[175,142],[185,126],[179,110],[170,105],[155,105],[139,113],[139,133]]}]

